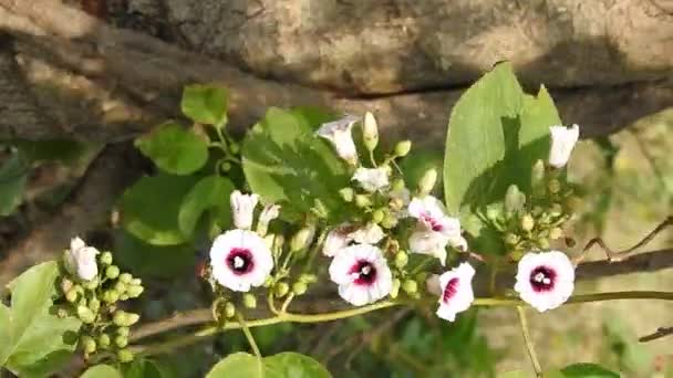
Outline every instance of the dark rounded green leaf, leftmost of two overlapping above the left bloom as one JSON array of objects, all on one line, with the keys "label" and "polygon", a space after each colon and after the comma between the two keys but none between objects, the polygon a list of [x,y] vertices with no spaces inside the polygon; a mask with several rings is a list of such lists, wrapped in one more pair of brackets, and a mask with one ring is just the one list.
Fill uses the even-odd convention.
[{"label": "dark rounded green leaf, leftmost of two overlapping above the left bloom", "polygon": [[179,230],[178,211],[197,179],[165,174],[141,178],[122,196],[122,225],[149,244],[185,243],[187,238]]}]

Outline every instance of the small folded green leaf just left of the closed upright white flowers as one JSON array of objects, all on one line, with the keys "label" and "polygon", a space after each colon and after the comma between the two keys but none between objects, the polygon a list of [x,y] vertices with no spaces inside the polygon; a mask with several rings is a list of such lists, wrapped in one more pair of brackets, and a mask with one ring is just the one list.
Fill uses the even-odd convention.
[{"label": "small folded green leaf just left of the closed upright white flowers", "polygon": [[213,210],[219,228],[226,229],[231,222],[229,195],[232,191],[234,183],[220,176],[208,176],[198,181],[183,200],[178,213],[178,225],[185,237],[191,237],[206,210]]}]

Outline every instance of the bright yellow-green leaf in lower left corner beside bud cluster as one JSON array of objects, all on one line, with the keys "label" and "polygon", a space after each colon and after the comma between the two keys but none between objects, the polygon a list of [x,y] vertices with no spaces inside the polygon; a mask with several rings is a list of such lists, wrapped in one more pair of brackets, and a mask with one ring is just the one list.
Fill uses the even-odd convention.
[{"label": "bright yellow-green leaf in lower left corner beside bud cluster", "polygon": [[50,312],[59,266],[35,265],[12,281],[11,309],[0,307],[0,366],[25,377],[43,377],[58,369],[74,350],[81,322]]}]

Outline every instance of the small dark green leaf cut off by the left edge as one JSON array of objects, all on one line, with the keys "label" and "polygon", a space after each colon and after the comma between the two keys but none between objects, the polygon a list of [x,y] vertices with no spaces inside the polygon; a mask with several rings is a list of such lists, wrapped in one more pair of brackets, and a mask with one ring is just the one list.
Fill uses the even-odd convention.
[{"label": "small dark green leaf cut off by the left edge", "polygon": [[11,214],[23,201],[30,167],[19,153],[0,167],[0,216]]}]

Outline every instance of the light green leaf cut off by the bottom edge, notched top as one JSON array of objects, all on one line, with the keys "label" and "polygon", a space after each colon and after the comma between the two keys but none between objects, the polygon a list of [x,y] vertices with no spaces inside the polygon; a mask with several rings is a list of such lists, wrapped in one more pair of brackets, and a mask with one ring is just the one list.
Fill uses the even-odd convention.
[{"label": "light green leaf cut off by the bottom edge, notched top", "polygon": [[330,372],[309,356],[281,353],[262,359],[263,372],[257,358],[236,353],[219,361],[206,378],[330,378]]}]

